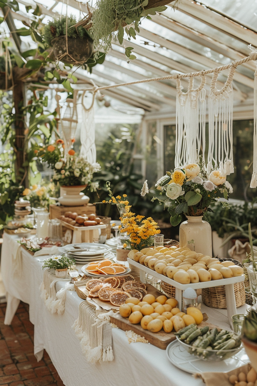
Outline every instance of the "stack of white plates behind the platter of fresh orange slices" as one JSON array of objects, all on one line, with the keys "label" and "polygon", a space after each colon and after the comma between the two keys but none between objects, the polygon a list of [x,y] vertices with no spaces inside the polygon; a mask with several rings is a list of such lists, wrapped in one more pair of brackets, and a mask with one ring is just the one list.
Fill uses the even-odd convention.
[{"label": "stack of white plates behind the platter of fresh orange slices", "polygon": [[95,243],[69,244],[60,248],[59,251],[75,259],[77,264],[88,264],[91,261],[113,259],[114,257],[108,245]]}]

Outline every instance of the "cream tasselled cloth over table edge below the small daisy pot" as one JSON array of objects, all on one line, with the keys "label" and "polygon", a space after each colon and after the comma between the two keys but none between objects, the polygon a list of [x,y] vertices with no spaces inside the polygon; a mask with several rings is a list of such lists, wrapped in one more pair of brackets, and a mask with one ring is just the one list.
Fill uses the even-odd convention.
[{"label": "cream tasselled cloth over table edge below the small daisy pot", "polygon": [[67,281],[69,278],[57,278],[54,269],[45,269],[39,290],[47,310],[51,313],[57,312],[59,315],[62,315],[65,310],[66,291],[74,291],[75,288],[74,284],[66,283],[65,288],[60,289],[56,293],[55,283],[60,280]]}]

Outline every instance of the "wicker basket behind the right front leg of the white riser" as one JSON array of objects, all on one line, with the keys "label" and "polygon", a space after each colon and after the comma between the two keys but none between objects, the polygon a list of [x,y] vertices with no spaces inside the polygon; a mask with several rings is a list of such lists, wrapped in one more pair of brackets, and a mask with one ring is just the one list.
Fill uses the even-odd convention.
[{"label": "wicker basket behind the right front leg of the white riser", "polygon": [[[234,259],[218,259],[220,262],[231,261],[234,264],[242,267],[238,260]],[[245,286],[241,281],[234,284],[235,304],[237,307],[245,304]],[[202,302],[212,308],[227,308],[225,286],[202,288]]]}]

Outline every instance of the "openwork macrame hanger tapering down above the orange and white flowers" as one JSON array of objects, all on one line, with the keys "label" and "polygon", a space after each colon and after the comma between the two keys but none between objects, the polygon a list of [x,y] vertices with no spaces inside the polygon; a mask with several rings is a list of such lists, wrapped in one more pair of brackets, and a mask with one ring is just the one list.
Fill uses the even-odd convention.
[{"label": "openwork macrame hanger tapering down above the orange and white flowers", "polygon": [[73,99],[66,99],[66,105],[62,107],[60,113],[60,134],[64,140],[65,159],[74,142],[77,123],[77,90],[74,90]]}]

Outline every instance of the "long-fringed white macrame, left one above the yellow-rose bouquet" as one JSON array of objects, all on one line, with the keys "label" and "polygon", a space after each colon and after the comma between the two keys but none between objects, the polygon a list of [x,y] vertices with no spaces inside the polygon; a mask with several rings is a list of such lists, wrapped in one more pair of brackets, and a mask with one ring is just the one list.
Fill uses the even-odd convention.
[{"label": "long-fringed white macrame, left one above the yellow-rose bouquet", "polygon": [[200,86],[194,89],[191,76],[186,93],[182,92],[180,79],[177,79],[175,168],[198,163],[200,150],[205,161],[206,79],[204,75],[201,78]]}]

